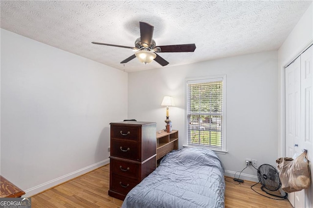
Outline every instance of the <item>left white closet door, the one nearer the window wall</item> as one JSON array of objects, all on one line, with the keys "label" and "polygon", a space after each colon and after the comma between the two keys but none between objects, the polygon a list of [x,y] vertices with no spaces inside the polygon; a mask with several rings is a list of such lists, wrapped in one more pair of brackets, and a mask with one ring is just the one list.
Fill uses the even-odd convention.
[{"label": "left white closet door, the one nearer the window wall", "polygon": [[[293,157],[295,147],[300,140],[300,57],[286,67],[286,157]],[[298,147],[296,147],[298,148]],[[295,207],[294,193],[288,199]]]}]

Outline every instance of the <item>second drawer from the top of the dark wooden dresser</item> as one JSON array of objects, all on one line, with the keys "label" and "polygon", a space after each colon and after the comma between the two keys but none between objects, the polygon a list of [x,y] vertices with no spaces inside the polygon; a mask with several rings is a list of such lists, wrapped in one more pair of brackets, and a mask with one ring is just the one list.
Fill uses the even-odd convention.
[{"label": "second drawer from the top of the dark wooden dresser", "polygon": [[135,141],[123,141],[111,139],[111,156],[140,161],[138,143]]}]

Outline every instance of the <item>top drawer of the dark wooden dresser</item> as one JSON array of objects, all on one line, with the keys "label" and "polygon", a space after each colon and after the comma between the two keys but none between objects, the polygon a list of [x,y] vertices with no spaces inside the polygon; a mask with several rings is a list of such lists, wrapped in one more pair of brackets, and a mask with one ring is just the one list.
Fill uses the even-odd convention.
[{"label": "top drawer of the dark wooden dresser", "polygon": [[116,139],[139,140],[139,127],[111,126],[111,137]]}]

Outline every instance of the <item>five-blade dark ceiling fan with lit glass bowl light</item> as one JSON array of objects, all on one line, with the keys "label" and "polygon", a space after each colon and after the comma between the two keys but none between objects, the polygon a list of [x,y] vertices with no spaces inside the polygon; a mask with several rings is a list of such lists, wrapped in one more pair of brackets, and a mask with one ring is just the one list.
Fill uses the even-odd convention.
[{"label": "five-blade dark ceiling fan with lit glass bowl light", "polygon": [[195,43],[192,44],[180,44],[180,45],[162,45],[156,46],[156,42],[152,39],[154,26],[139,21],[140,26],[140,37],[135,41],[135,47],[123,46],[123,45],[114,45],[102,42],[91,42],[93,44],[99,45],[109,45],[114,47],[121,48],[130,48],[137,50],[134,55],[123,60],[121,63],[127,63],[133,60],[135,57],[142,63],[150,63],[153,60],[158,62],[162,66],[169,64],[165,59],[157,55],[156,53],[168,53],[168,52],[194,52],[196,49]]}]

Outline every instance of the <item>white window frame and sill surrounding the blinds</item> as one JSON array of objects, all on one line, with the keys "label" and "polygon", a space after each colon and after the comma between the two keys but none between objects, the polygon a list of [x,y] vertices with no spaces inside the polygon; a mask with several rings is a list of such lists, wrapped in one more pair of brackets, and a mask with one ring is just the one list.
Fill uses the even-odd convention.
[{"label": "white window frame and sill surrounding the blinds", "polygon": [[[213,146],[205,146],[205,145],[190,145],[188,144],[188,84],[190,83],[210,83],[223,81],[223,124],[222,124],[222,148],[214,148]],[[186,140],[184,147],[200,147],[200,148],[208,148],[217,153],[225,154],[226,150],[226,74],[222,75],[214,75],[214,76],[206,76],[206,77],[195,77],[195,78],[186,78],[185,79],[185,133]]]}]

